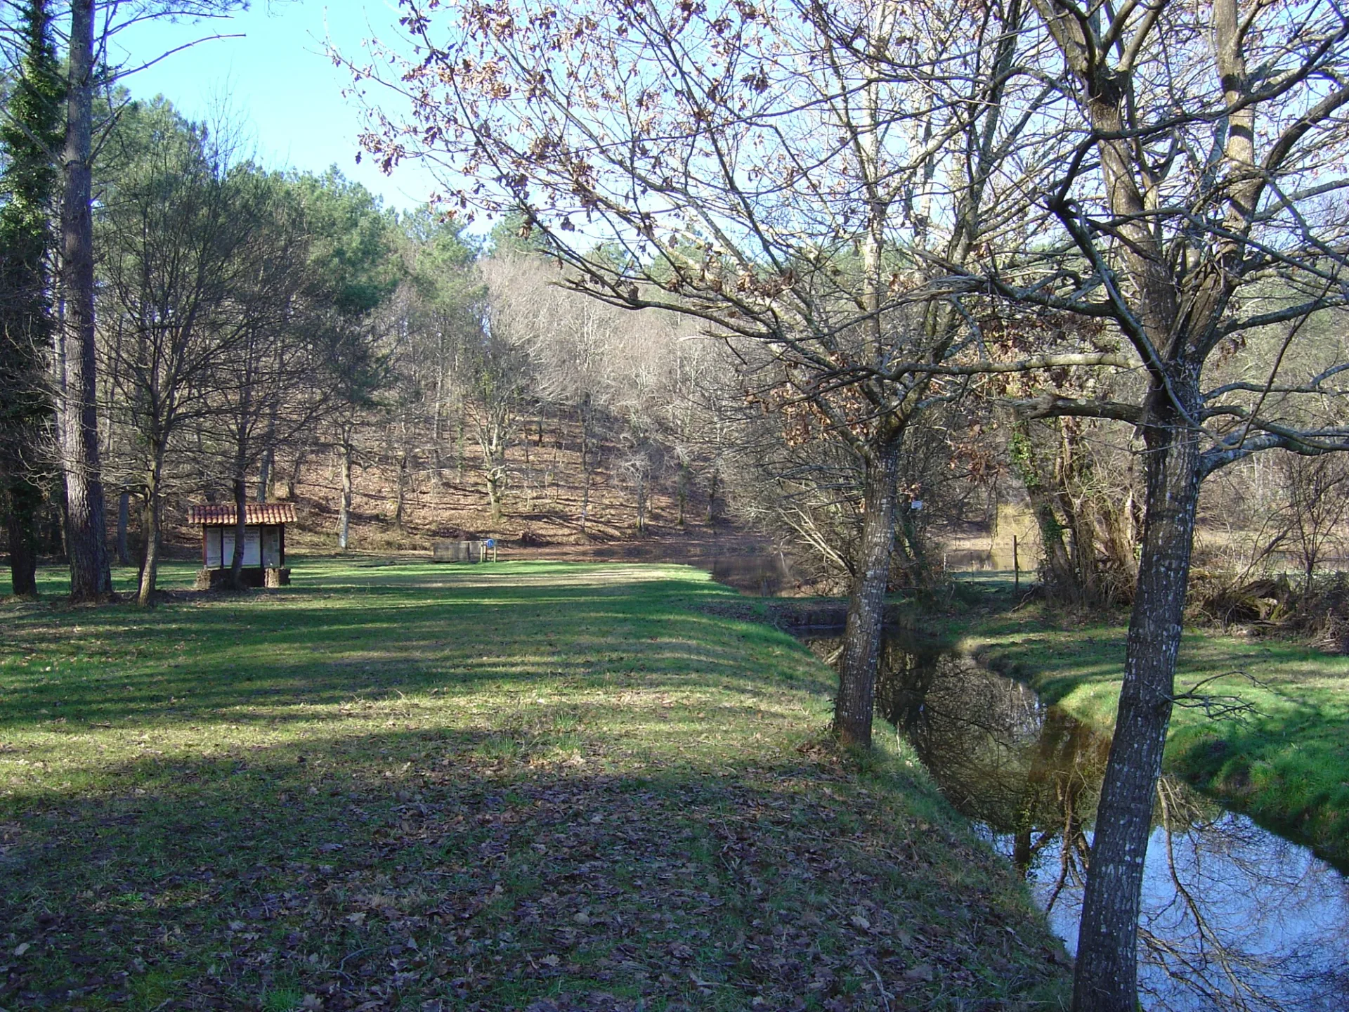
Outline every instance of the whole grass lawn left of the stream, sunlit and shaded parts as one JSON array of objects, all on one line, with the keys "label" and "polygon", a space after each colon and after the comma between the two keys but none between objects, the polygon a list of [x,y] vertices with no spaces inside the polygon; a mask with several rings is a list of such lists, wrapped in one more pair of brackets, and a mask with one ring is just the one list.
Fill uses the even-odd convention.
[{"label": "whole grass lawn left of the stream, sunlit and shaded parts", "polygon": [[822,745],[832,673],[735,600],[297,560],[0,606],[0,1007],[1058,1007],[1023,887],[912,753]]}]

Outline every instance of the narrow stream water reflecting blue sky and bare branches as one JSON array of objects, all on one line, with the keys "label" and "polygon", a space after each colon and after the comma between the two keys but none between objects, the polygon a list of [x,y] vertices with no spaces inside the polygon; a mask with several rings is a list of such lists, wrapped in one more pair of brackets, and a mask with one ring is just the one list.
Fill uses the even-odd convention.
[{"label": "narrow stream water reflecting blue sky and bare branches", "polygon": [[[807,642],[836,663],[836,636]],[[877,712],[1027,877],[1072,951],[1109,738],[1012,679],[900,634],[882,652]],[[1349,1008],[1345,876],[1170,777],[1153,819],[1139,940],[1144,1008]]]}]

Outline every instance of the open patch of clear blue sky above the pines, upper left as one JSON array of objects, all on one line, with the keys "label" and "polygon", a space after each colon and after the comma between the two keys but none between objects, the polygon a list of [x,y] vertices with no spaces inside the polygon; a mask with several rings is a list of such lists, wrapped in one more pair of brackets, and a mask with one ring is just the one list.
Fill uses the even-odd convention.
[{"label": "open patch of clear blue sky above the pines, upper left", "polygon": [[[254,0],[229,19],[152,22],[115,36],[113,61],[139,65],[183,43],[213,34],[244,38],[202,42],[123,81],[138,99],[163,94],[186,116],[206,117],[225,99],[251,135],[258,161],[270,169],[322,171],[329,165],[380,194],[387,205],[410,208],[434,189],[415,165],[380,173],[368,158],[356,165],[362,117],[344,99],[349,74],[325,55],[328,39],[357,62],[364,40],[398,36],[394,0]],[[120,51],[119,51],[120,50]]]}]

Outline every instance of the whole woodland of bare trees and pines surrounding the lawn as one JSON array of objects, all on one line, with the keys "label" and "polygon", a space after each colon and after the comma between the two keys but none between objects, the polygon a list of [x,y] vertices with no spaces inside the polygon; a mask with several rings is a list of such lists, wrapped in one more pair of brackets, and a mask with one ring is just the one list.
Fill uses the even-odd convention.
[{"label": "whole woodland of bare trees and pines surrounding the lawn", "polygon": [[1129,611],[1074,1008],[1135,1008],[1172,714],[1222,704],[1186,622],[1349,646],[1349,18],[402,0],[331,54],[363,157],[437,167],[399,212],[101,62],[117,16],[236,7],[4,8],[15,598],[55,560],[112,602],[116,561],[154,609],[201,502],[235,590],[248,502],[318,552],[731,538],[846,599],[866,752],[889,603],[1014,536],[1018,591]]}]

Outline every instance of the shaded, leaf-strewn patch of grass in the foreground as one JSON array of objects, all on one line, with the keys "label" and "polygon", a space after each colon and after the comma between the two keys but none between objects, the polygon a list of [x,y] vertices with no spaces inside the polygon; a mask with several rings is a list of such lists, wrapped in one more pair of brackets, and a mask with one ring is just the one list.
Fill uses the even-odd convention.
[{"label": "shaded, leaf-strewn patch of grass in the foreground", "polygon": [[858,791],[828,757],[614,770],[587,752],[391,731],[11,796],[0,1004],[1002,1009],[1055,993],[1058,947],[1024,892],[931,796]]}]

